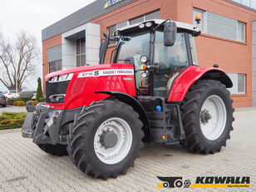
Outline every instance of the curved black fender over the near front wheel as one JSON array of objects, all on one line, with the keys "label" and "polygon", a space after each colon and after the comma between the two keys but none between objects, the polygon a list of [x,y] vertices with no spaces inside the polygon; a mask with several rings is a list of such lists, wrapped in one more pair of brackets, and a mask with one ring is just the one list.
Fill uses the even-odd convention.
[{"label": "curved black fender over the near front wheel", "polygon": [[145,133],[145,137],[143,138],[143,141],[150,142],[151,140],[150,121],[148,119],[148,116],[146,115],[145,109],[143,108],[143,106],[141,106],[140,102],[135,99],[135,97],[119,91],[96,91],[96,93],[103,93],[103,94],[110,95],[111,97],[114,97],[119,101],[122,101],[127,105],[132,106],[134,111],[136,111],[140,115],[140,121],[142,121],[143,123],[142,130]]}]

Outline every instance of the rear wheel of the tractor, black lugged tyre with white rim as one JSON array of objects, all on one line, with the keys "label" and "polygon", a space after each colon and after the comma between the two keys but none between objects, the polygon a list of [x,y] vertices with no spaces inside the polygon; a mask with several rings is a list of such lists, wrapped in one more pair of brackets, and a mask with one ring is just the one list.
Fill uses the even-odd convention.
[{"label": "rear wheel of the tractor, black lugged tyre with white rim", "polygon": [[233,130],[232,103],[229,91],[219,81],[198,81],[191,86],[180,107],[186,135],[180,144],[195,153],[219,152]]}]

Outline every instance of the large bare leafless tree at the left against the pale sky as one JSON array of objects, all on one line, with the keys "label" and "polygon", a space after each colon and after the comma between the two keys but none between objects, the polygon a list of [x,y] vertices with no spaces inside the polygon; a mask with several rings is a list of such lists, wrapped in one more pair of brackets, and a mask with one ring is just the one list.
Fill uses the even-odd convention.
[{"label": "large bare leafless tree at the left against the pale sky", "polygon": [[22,91],[27,76],[32,75],[38,63],[39,49],[35,37],[19,32],[11,43],[0,34],[0,81],[9,90]]}]

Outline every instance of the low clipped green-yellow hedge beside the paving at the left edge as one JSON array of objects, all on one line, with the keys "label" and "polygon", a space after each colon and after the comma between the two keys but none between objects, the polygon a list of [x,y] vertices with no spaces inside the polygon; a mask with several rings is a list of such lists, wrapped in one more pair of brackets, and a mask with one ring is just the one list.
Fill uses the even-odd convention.
[{"label": "low clipped green-yellow hedge beside the paving at the left edge", "polygon": [[0,116],[0,130],[22,128],[26,115],[26,112],[2,112],[2,116]]}]

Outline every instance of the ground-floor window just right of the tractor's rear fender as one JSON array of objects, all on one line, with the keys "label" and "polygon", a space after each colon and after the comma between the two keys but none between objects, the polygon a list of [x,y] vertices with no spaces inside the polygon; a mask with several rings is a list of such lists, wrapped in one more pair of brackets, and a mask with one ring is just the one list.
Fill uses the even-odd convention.
[{"label": "ground-floor window just right of the tractor's rear fender", "polygon": [[229,73],[233,87],[229,88],[231,94],[245,94],[246,93],[246,75],[238,73]]}]

